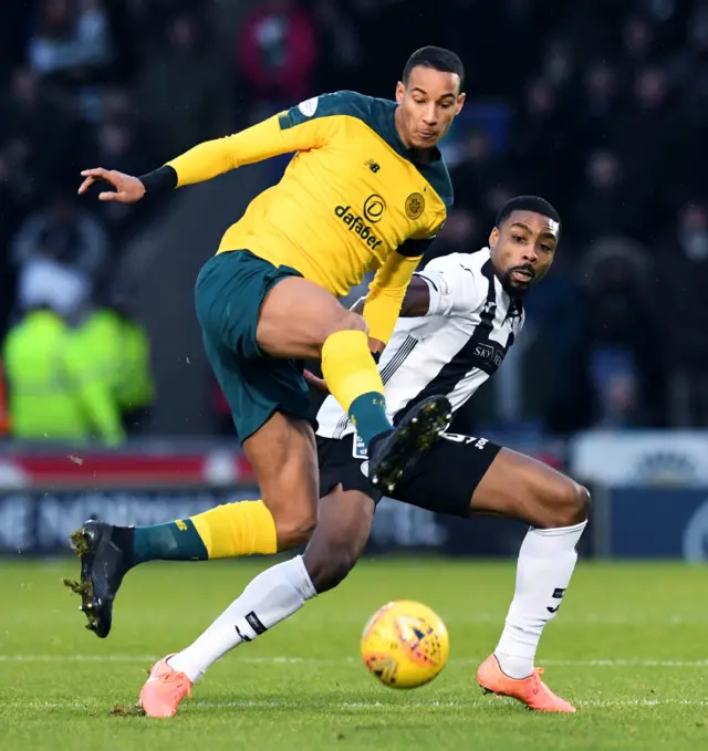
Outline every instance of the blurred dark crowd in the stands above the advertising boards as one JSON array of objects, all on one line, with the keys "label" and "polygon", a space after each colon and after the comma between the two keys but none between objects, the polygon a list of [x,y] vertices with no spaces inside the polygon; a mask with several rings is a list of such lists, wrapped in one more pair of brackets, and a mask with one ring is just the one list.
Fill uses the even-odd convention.
[{"label": "blurred dark crowd in the stands above the advertising boards", "polygon": [[[391,96],[408,54],[430,43],[456,50],[468,71],[468,104],[445,149],[456,208],[434,253],[483,246],[517,194],[544,196],[564,220],[556,267],[528,300],[523,362],[509,366],[520,368],[521,400],[540,405],[554,432],[706,427],[708,0],[2,3],[0,335],[10,403],[25,377],[10,351],[28,316],[41,319],[38,331],[54,316],[72,343],[105,312],[140,328],[115,282],[150,209],[77,200],[82,167],[140,174],[321,92]],[[76,356],[58,365],[50,340],[46,384],[74,384],[52,368],[75,372]],[[140,367],[146,383],[149,365]],[[105,388],[121,413],[121,387]],[[100,425],[86,435],[125,435]]]}]

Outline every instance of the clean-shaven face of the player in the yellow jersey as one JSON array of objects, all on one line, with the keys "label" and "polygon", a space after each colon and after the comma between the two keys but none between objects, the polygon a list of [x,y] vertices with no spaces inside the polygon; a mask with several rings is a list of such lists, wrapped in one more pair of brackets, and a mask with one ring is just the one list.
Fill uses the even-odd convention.
[{"label": "clean-shaven face of the player in the yellow jersey", "polygon": [[399,125],[408,148],[433,148],[450,129],[465,104],[457,73],[417,65],[407,83],[398,82]]}]

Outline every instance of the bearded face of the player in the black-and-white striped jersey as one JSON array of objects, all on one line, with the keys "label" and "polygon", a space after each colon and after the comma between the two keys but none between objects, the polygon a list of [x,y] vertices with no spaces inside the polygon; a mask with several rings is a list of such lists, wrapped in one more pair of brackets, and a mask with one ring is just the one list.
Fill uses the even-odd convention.
[{"label": "bearded face of the player in the black-and-white striped jersey", "polygon": [[494,227],[489,236],[491,261],[509,294],[522,295],[545,277],[559,236],[559,223],[535,211],[512,211]]}]

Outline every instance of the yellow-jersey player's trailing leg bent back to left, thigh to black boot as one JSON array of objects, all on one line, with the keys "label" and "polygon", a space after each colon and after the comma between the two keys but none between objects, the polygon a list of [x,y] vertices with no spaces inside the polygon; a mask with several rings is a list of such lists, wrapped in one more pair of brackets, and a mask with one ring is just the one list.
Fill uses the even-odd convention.
[{"label": "yellow-jersey player's trailing leg bent back to left, thigh to black boot", "polygon": [[243,444],[262,500],[148,528],[86,522],[72,535],[81,581],[66,585],[81,598],[86,627],[105,638],[125,574],[148,560],[207,560],[289,550],[310,539],[316,521],[317,452],[310,423],[275,413]]}]

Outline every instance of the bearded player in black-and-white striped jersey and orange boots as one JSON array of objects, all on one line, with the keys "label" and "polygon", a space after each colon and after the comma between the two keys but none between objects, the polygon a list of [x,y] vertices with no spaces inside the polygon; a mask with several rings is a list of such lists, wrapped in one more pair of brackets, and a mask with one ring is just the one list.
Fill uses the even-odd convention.
[{"label": "bearded player in black-and-white striped jersey and orange boots", "polygon": [[[497,372],[523,325],[523,295],[551,267],[560,229],[550,204],[521,196],[501,209],[489,248],[438,258],[414,277],[379,363],[394,424],[430,388],[447,394],[458,410]],[[372,346],[378,348],[378,343]],[[325,387],[319,378],[310,382]],[[365,446],[332,397],[317,419],[324,497],[310,544],[302,556],[259,574],[194,644],[153,668],[140,691],[150,717],[171,717],[217,659],[336,586],[362,554],[382,492],[368,480]],[[587,522],[587,491],[490,440],[447,432],[391,496],[439,513],[492,514],[530,524],[501,638],[477,679],[486,691],[513,697],[531,709],[574,712],[541,680],[534,657],[575,567],[575,547]]]}]

